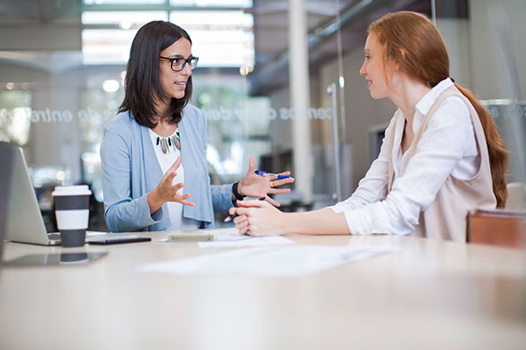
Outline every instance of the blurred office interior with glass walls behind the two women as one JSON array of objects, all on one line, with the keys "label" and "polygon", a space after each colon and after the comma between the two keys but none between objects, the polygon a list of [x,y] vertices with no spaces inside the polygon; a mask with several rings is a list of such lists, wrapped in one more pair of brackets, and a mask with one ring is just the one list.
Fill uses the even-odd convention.
[{"label": "blurred office interior with glass walls behind the two women", "polygon": [[399,10],[436,22],[451,76],[486,103],[511,149],[510,181],[524,181],[523,0],[0,0],[0,140],[24,149],[42,211],[52,186],[90,184],[91,229],[104,229],[103,126],[135,32],[166,20],[200,58],[192,103],[209,120],[212,181],[238,180],[253,156],[296,176],[285,210],[330,204],[355,189],[395,111],[370,98],[359,69],[368,23]]}]

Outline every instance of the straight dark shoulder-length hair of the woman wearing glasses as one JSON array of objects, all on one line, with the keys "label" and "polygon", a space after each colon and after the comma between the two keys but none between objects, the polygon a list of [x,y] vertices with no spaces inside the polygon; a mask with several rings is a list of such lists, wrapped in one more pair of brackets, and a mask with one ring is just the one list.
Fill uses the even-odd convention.
[{"label": "straight dark shoulder-length hair of the woman wearing glasses", "polygon": [[[153,114],[156,113],[155,101],[166,99],[165,91],[159,80],[159,56],[161,51],[185,38],[192,43],[183,28],[171,22],[153,21],[143,25],[135,35],[129,50],[129,60],[125,79],[124,101],[119,112],[130,111],[140,124],[147,128],[156,127]],[[171,122],[181,121],[184,106],[192,97],[192,76],[188,77],[184,97],[171,98],[165,115]]]}]

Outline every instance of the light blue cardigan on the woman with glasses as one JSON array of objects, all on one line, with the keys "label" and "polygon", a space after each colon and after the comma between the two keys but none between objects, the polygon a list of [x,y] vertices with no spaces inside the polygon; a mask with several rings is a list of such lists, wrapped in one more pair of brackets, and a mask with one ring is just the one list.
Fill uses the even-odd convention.
[{"label": "light blue cardigan on the woman with glasses", "polygon": [[[131,115],[131,118],[130,118]],[[201,221],[201,228],[214,226],[213,211],[233,206],[232,184],[210,185],[207,169],[207,121],[198,108],[187,105],[179,122],[184,193],[195,207],[183,206],[183,216]],[[123,112],[104,129],[103,166],[104,219],[112,232],[157,231],[171,225],[164,204],[150,215],[147,193],[163,178],[148,128]]]}]

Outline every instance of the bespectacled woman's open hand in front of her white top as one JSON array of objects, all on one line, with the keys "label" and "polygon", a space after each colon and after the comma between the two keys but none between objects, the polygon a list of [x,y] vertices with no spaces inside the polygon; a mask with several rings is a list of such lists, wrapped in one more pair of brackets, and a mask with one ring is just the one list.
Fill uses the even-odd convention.
[{"label": "bespectacled woman's open hand in front of her white top", "polygon": [[150,214],[158,211],[159,208],[165,202],[179,202],[183,205],[190,205],[195,207],[195,203],[186,201],[191,197],[190,193],[180,194],[178,191],[184,187],[183,183],[172,184],[175,175],[177,175],[177,169],[181,166],[181,157],[175,159],[174,165],[166,171],[165,175],[161,179],[161,182],[157,184],[150,193],[147,193],[148,205],[150,207]]}]

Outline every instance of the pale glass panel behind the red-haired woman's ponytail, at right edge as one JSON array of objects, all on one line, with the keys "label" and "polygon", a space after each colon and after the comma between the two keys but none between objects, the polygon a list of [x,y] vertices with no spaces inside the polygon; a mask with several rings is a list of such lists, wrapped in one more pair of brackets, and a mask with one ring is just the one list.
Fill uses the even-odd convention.
[{"label": "pale glass panel behind the red-haired woman's ponytail, at right edge", "polygon": [[437,26],[450,51],[451,76],[495,118],[510,151],[508,183],[526,181],[526,3],[437,2]]}]

